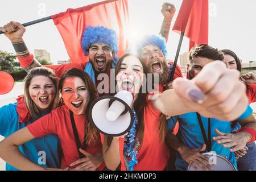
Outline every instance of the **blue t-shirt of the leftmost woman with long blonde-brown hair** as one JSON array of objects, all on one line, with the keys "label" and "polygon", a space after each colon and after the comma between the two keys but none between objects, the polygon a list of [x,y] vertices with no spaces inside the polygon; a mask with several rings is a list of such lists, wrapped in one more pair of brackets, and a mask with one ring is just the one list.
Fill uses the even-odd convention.
[{"label": "blue t-shirt of the leftmost woman with long blonde-brown hair", "polygon": [[[9,104],[0,108],[0,135],[5,138],[35,121],[30,119],[26,123],[20,123],[16,105],[17,103]],[[46,114],[48,113],[42,113],[41,117]],[[60,140],[56,135],[32,139],[19,146],[19,150],[35,164],[46,168],[60,168],[62,152]],[[18,169],[6,163],[6,171]]]}]

